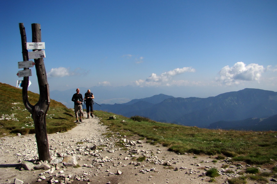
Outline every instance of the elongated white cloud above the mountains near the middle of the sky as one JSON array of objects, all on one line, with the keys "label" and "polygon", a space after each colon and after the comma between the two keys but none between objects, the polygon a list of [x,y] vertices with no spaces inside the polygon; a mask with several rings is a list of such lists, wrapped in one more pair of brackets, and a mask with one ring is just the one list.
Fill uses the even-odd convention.
[{"label": "elongated white cloud above the mountains near the middle of the sky", "polygon": [[162,73],[161,75],[157,75],[152,73],[146,80],[137,80],[135,84],[137,86],[171,86],[171,85],[180,85],[180,84],[187,84],[187,81],[173,81],[172,78],[175,75],[182,74],[184,72],[195,72],[195,69],[192,67],[183,67],[183,68],[176,68],[171,71],[167,71]]}]

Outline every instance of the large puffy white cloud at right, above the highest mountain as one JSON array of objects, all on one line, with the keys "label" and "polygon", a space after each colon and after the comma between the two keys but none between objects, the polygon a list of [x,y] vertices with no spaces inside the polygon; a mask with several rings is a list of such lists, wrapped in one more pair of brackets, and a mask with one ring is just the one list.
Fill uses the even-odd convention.
[{"label": "large puffy white cloud at right, above the highest mountain", "polygon": [[251,63],[249,65],[243,62],[235,63],[233,67],[225,66],[219,71],[217,81],[227,86],[239,84],[242,81],[258,81],[263,72],[266,71],[262,65]]}]

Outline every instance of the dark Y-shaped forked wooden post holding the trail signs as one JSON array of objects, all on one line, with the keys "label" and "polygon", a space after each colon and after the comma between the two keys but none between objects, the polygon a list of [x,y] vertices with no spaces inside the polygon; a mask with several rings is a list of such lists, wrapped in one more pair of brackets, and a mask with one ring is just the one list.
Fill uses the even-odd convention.
[{"label": "dark Y-shaped forked wooden post holding the trail signs", "polygon": [[[24,61],[28,61],[27,39],[23,23],[19,23],[22,42],[22,56]],[[40,24],[32,24],[32,41],[41,42]],[[40,51],[40,50],[33,50]],[[49,145],[46,131],[46,113],[50,105],[49,84],[47,82],[46,70],[43,58],[34,59],[36,73],[38,77],[39,100],[37,104],[31,105],[28,100],[29,77],[24,77],[22,82],[22,99],[26,109],[31,113],[34,120],[35,134],[38,146],[39,160],[50,161]],[[24,68],[25,69],[25,68]],[[29,69],[29,68],[28,68]]]}]

